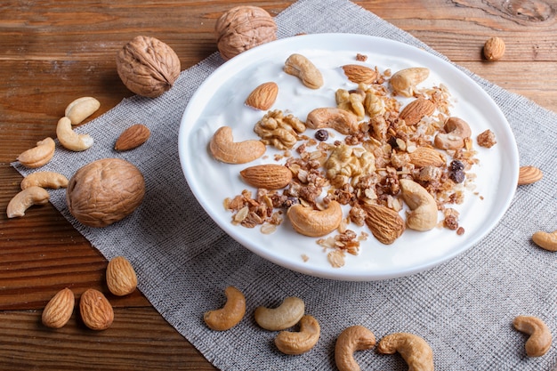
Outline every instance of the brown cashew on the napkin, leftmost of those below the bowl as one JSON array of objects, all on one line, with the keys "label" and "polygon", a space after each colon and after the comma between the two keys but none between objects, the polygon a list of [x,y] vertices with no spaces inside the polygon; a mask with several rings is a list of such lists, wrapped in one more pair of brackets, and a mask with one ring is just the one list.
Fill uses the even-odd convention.
[{"label": "brown cashew on the napkin, leftmost of those below the bowl", "polygon": [[216,331],[229,330],[238,325],[246,314],[246,297],[238,288],[228,286],[224,290],[226,303],[221,309],[206,311],[203,319],[207,327]]}]

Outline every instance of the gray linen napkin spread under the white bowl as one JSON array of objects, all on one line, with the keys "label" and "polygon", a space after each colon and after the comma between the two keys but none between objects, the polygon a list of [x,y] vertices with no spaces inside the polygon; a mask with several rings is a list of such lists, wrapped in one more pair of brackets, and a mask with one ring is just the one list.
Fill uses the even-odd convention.
[{"label": "gray linen napkin spread under the white bowl", "polygon": [[[301,0],[276,20],[279,37],[322,32],[382,36],[446,59],[347,0]],[[215,53],[183,71],[163,96],[122,101],[77,128],[93,136],[92,149],[70,153],[59,146],[42,169],[70,177],[102,157],[122,157],[141,169],[147,186],[144,202],[132,216],[107,228],[76,222],[64,190],[52,191],[52,204],[108,259],[125,255],[138,273],[141,292],[215,367],[332,370],[336,336],[357,324],[378,339],[400,331],[423,336],[432,345],[439,370],[539,371],[555,365],[555,346],[545,357],[525,356],[526,336],[513,329],[512,321],[520,314],[535,315],[557,335],[557,259],[530,241],[536,230],[557,229],[557,115],[464,70],[503,109],[519,144],[521,165],[540,167],[544,180],[520,187],[496,229],[440,267],[378,282],[312,278],[266,262],[238,245],[198,205],[183,178],[177,149],[182,112],[198,85],[221,64]],[[133,123],[148,125],[151,138],[133,151],[114,152],[117,134]],[[203,313],[222,305],[223,289],[229,285],[246,294],[246,317],[229,331],[211,331]],[[300,356],[276,351],[276,333],[257,327],[253,319],[256,306],[276,306],[289,295],[303,298],[306,312],[319,319],[322,328],[318,345]],[[407,369],[400,356],[361,351],[356,357],[362,369]]]}]

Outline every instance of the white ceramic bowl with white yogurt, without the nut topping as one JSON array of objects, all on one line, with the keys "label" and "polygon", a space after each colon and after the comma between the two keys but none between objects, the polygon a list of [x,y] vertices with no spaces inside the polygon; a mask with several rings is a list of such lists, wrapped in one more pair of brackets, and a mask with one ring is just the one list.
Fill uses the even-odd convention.
[{"label": "white ceramic bowl with white yogurt, without the nut topping", "polygon": [[[325,86],[311,90],[293,76],[283,72],[285,60],[292,53],[309,58],[323,73]],[[367,55],[358,62],[357,53]],[[451,93],[453,116],[469,123],[472,135],[490,129],[496,135],[496,146],[478,149],[479,165],[475,194],[466,192],[464,204],[457,206],[464,235],[435,228],[427,232],[406,230],[390,246],[379,243],[371,234],[362,241],[359,255],[346,255],[342,268],[333,268],[327,253],[316,238],[299,235],[285,222],[270,235],[259,228],[246,229],[231,223],[231,213],[224,210],[225,198],[249,189],[239,178],[239,171],[248,165],[273,163],[272,149],[268,157],[248,165],[227,165],[214,160],[208,142],[214,131],[223,125],[232,127],[235,141],[258,139],[254,124],[265,112],[244,105],[255,86],[274,81],[279,86],[278,99],[272,109],[291,111],[303,121],[317,107],[334,107],[335,90],[351,89],[341,66],[363,63],[380,71],[393,72],[408,67],[427,67],[430,77],[420,86],[446,85]],[[306,133],[311,136],[311,130]],[[337,139],[341,135],[338,134]],[[243,52],[224,63],[206,79],[191,98],[182,117],[179,153],[183,173],[190,189],[214,221],[232,238],[270,262],[320,278],[342,280],[376,280],[408,276],[427,270],[456,257],[492,230],[511,203],[518,179],[518,150],[510,126],[479,85],[452,64],[429,52],[392,40],[351,34],[317,34],[295,36]],[[403,212],[401,212],[403,214]],[[357,230],[358,231],[358,230]],[[303,255],[308,257],[303,260]]]}]

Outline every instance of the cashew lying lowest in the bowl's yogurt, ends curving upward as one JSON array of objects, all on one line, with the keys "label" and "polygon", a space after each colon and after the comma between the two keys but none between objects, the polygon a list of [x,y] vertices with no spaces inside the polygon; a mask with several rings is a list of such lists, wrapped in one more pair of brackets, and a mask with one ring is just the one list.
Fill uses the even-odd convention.
[{"label": "cashew lying lowest in the bowl's yogurt, ends curving upward", "polygon": [[288,208],[287,217],[296,232],[308,237],[321,237],[338,228],[343,220],[343,209],[336,201],[331,201],[325,210],[296,204]]}]

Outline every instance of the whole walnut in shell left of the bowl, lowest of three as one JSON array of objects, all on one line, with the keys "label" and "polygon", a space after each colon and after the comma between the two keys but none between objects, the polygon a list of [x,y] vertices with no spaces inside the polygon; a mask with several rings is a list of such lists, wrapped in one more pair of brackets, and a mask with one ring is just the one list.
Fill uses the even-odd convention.
[{"label": "whole walnut in shell left of the bowl, lowest of three", "polygon": [[69,213],[90,227],[106,227],[141,205],[145,181],[137,167],[119,158],[103,158],[77,170],[66,190]]}]

